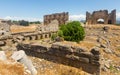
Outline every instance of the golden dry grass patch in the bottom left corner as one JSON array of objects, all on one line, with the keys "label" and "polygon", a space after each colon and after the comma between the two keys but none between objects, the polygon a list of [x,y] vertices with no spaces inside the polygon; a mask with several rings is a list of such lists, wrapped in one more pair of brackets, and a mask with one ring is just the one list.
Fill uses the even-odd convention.
[{"label": "golden dry grass patch in the bottom left corner", "polygon": [[25,75],[24,66],[16,62],[0,61],[0,75]]}]

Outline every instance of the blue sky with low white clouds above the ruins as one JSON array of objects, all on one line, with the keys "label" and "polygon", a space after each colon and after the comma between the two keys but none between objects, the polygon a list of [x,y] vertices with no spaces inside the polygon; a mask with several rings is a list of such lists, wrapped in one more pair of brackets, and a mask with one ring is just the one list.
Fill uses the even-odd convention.
[{"label": "blue sky with low white clouds above the ruins", "polygon": [[0,18],[42,20],[46,14],[69,12],[70,19],[85,19],[86,11],[116,9],[120,0],[0,0]]}]

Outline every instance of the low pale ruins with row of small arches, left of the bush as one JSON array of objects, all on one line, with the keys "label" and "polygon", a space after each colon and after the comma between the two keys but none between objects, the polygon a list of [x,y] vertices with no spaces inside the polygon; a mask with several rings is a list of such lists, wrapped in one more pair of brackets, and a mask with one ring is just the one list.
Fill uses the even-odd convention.
[{"label": "low pale ruins with row of small arches, left of the bush", "polygon": [[40,40],[50,38],[58,31],[58,21],[53,20],[47,26],[44,24],[36,26],[17,26],[0,23],[0,46],[20,43],[29,40]]}]

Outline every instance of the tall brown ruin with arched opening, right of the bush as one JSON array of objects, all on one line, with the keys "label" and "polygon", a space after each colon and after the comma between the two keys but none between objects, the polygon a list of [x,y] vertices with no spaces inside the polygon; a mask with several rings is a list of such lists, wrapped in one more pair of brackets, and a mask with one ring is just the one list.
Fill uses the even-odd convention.
[{"label": "tall brown ruin with arched opening, right of the bush", "polygon": [[108,10],[94,11],[92,14],[86,12],[86,24],[97,24],[99,19],[103,19],[103,24],[116,24],[116,10],[108,13]]}]

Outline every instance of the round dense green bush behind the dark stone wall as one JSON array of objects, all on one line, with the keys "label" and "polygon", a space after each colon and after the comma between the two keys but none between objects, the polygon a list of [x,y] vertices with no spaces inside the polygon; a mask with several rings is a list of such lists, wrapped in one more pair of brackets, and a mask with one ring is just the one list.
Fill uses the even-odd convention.
[{"label": "round dense green bush behind the dark stone wall", "polygon": [[79,42],[85,37],[84,28],[78,21],[73,21],[62,25],[60,27],[60,33],[63,33],[63,38],[67,41]]}]

